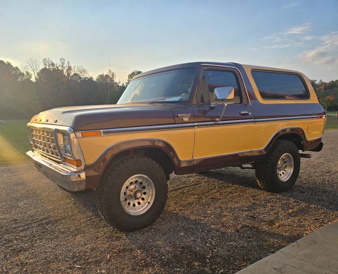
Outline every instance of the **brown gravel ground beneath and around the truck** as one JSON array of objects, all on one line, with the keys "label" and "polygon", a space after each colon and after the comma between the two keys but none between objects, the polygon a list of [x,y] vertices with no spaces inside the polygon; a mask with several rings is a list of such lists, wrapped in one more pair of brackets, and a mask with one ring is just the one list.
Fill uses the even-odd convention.
[{"label": "brown gravel ground beneath and around the truck", "polygon": [[254,170],[172,175],[167,206],[141,231],[98,215],[30,165],[0,167],[1,273],[234,273],[338,218],[338,130],[301,159],[295,186],[258,188]]}]

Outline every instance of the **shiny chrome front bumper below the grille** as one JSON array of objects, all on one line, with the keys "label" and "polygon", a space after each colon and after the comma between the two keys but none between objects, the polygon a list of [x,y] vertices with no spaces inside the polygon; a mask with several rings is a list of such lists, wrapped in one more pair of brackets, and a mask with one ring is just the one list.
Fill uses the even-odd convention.
[{"label": "shiny chrome front bumper below the grille", "polygon": [[54,183],[70,191],[79,191],[86,188],[86,175],[84,171],[75,171],[42,158],[33,150],[26,152],[29,162]]}]

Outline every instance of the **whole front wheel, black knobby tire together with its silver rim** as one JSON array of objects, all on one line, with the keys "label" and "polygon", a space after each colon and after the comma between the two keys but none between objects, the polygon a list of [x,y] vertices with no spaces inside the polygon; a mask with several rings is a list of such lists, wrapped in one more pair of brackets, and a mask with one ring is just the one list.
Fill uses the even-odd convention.
[{"label": "whole front wheel, black knobby tire together with its silver rim", "polygon": [[106,167],[95,200],[98,212],[108,224],[134,231],[158,218],[167,193],[167,179],[161,166],[143,155],[131,155]]}]

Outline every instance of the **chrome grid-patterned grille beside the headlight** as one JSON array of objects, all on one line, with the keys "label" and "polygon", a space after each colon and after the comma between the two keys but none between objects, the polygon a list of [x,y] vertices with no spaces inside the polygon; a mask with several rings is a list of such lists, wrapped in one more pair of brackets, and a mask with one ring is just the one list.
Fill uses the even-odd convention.
[{"label": "chrome grid-patterned grille beside the headlight", "polygon": [[53,130],[30,127],[29,131],[30,139],[37,151],[61,159],[56,149]]}]

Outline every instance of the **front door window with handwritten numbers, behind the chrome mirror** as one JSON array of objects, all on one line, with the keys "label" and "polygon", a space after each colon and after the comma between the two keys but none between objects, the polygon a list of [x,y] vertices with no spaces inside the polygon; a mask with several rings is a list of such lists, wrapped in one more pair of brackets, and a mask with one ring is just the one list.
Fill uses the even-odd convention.
[{"label": "front door window with handwritten numbers, behind the chrome mirror", "polygon": [[221,70],[204,70],[197,91],[197,102],[200,104],[219,102],[219,100],[214,100],[214,89],[217,87],[234,87],[234,99],[224,101],[228,104],[239,104],[241,102],[241,91],[235,73]]}]

